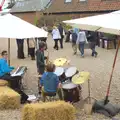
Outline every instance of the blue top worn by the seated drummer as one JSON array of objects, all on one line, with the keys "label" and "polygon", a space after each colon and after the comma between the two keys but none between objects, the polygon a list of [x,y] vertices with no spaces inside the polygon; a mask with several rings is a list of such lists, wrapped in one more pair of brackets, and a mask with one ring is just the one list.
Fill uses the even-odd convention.
[{"label": "blue top worn by the seated drummer", "polygon": [[59,78],[53,72],[45,72],[40,79],[40,84],[44,86],[45,92],[56,92],[59,84]]}]

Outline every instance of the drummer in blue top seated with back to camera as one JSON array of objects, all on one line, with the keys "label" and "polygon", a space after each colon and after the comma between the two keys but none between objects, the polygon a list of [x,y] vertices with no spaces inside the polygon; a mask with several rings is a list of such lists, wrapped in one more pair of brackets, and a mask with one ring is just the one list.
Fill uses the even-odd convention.
[{"label": "drummer in blue top seated with back to camera", "polygon": [[59,98],[62,100],[62,93],[61,88],[59,87],[59,78],[56,74],[54,74],[55,71],[55,65],[52,63],[49,63],[46,66],[47,72],[45,72],[42,75],[42,78],[40,79],[40,85],[42,87],[42,96],[43,101],[45,101],[45,94],[46,93],[58,93]]}]

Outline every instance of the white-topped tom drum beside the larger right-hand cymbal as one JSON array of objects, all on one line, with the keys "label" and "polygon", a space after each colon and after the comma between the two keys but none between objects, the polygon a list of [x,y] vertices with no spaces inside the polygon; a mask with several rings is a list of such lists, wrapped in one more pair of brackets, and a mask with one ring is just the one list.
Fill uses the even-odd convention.
[{"label": "white-topped tom drum beside the larger right-hand cymbal", "polygon": [[65,76],[66,78],[71,78],[77,73],[77,68],[76,67],[70,67],[66,69],[65,71]]}]

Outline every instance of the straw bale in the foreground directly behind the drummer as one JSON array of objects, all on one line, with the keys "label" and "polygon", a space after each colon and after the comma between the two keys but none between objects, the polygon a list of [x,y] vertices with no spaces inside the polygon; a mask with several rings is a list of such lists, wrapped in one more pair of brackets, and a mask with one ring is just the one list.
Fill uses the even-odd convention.
[{"label": "straw bale in the foreground directly behind the drummer", "polygon": [[75,120],[75,108],[63,101],[27,104],[22,120]]}]

